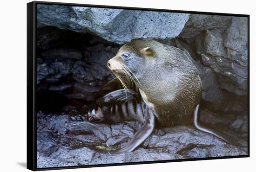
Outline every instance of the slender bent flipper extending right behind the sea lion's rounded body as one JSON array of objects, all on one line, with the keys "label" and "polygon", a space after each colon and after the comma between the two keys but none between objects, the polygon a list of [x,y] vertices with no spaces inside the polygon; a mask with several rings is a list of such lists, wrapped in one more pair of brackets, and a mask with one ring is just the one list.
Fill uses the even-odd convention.
[{"label": "slender bent flipper extending right behind the sea lion's rounded body", "polygon": [[216,137],[226,141],[229,144],[236,145],[236,143],[233,141],[233,139],[228,134],[225,134],[222,131],[219,131],[217,129],[213,129],[210,126],[206,127],[206,125],[204,125],[204,123],[202,123],[202,122],[200,122],[200,124],[199,124],[198,109],[199,109],[199,104],[195,107],[195,110],[194,110],[194,125],[197,129],[199,129],[203,132],[206,132],[206,133],[213,134]]}]

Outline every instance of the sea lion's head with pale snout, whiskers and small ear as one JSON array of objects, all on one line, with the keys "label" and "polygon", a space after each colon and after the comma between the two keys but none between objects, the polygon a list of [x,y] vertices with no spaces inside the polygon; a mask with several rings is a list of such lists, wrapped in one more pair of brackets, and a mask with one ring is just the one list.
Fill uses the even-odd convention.
[{"label": "sea lion's head with pale snout, whiskers and small ear", "polygon": [[109,70],[120,80],[133,81],[139,86],[143,74],[152,69],[156,60],[155,43],[134,39],[121,46],[115,57],[108,61]]}]

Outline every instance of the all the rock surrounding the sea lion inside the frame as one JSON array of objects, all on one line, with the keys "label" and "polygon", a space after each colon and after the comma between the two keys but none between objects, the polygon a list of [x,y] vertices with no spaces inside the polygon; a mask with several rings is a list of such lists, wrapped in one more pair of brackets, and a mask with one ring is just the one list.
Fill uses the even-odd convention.
[{"label": "all the rock surrounding the sea lion inside the frame", "polygon": [[[38,5],[37,14],[39,168],[248,153],[247,18],[47,5]],[[188,55],[201,74],[201,120],[236,145],[177,126],[156,129],[132,153],[108,154],[141,124],[89,123],[86,111],[113,78],[106,62],[134,38],[154,38]]]}]

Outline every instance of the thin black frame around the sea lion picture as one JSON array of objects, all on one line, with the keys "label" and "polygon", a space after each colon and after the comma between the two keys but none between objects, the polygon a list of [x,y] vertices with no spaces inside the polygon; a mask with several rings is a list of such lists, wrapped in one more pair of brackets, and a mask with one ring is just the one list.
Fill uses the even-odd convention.
[{"label": "thin black frame around the sea lion picture", "polygon": [[[100,164],[88,166],[65,166],[65,167],[47,167],[37,168],[37,122],[36,122],[36,25],[37,25],[37,5],[62,5],[62,6],[85,6],[97,8],[114,8],[114,9],[129,9],[141,11],[157,11],[157,12],[174,12],[174,13],[192,13],[192,14],[208,14],[208,15],[222,15],[222,16],[236,16],[246,17],[248,19],[248,155],[240,156],[225,156],[225,157],[209,157],[196,159],[173,159],[173,160],[158,160],[145,162],[131,162],[131,163],[117,163],[117,164]],[[125,6],[101,6],[88,4],[74,4],[74,3],[59,3],[59,2],[44,2],[33,1],[27,3],[27,169],[32,171],[40,170],[56,170],[56,169],[72,169],[84,167],[99,167],[99,166],[121,166],[121,165],[135,165],[135,164],[149,164],[149,163],[163,163],[163,162],[177,162],[177,161],[194,161],[207,159],[230,159],[230,158],[244,158],[249,157],[249,15],[245,14],[231,14],[231,13],[208,13],[195,11],[180,11],[180,10],[166,10],[166,9],[151,9],[151,8],[137,8]]]}]

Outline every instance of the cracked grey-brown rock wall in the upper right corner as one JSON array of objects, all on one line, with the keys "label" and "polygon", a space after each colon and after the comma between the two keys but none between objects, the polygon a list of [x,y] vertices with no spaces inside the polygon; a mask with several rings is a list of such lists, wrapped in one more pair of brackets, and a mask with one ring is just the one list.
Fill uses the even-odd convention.
[{"label": "cracked grey-brown rock wall in the upper right corner", "polygon": [[238,96],[247,95],[247,18],[190,15],[180,37],[217,74],[219,86]]}]

